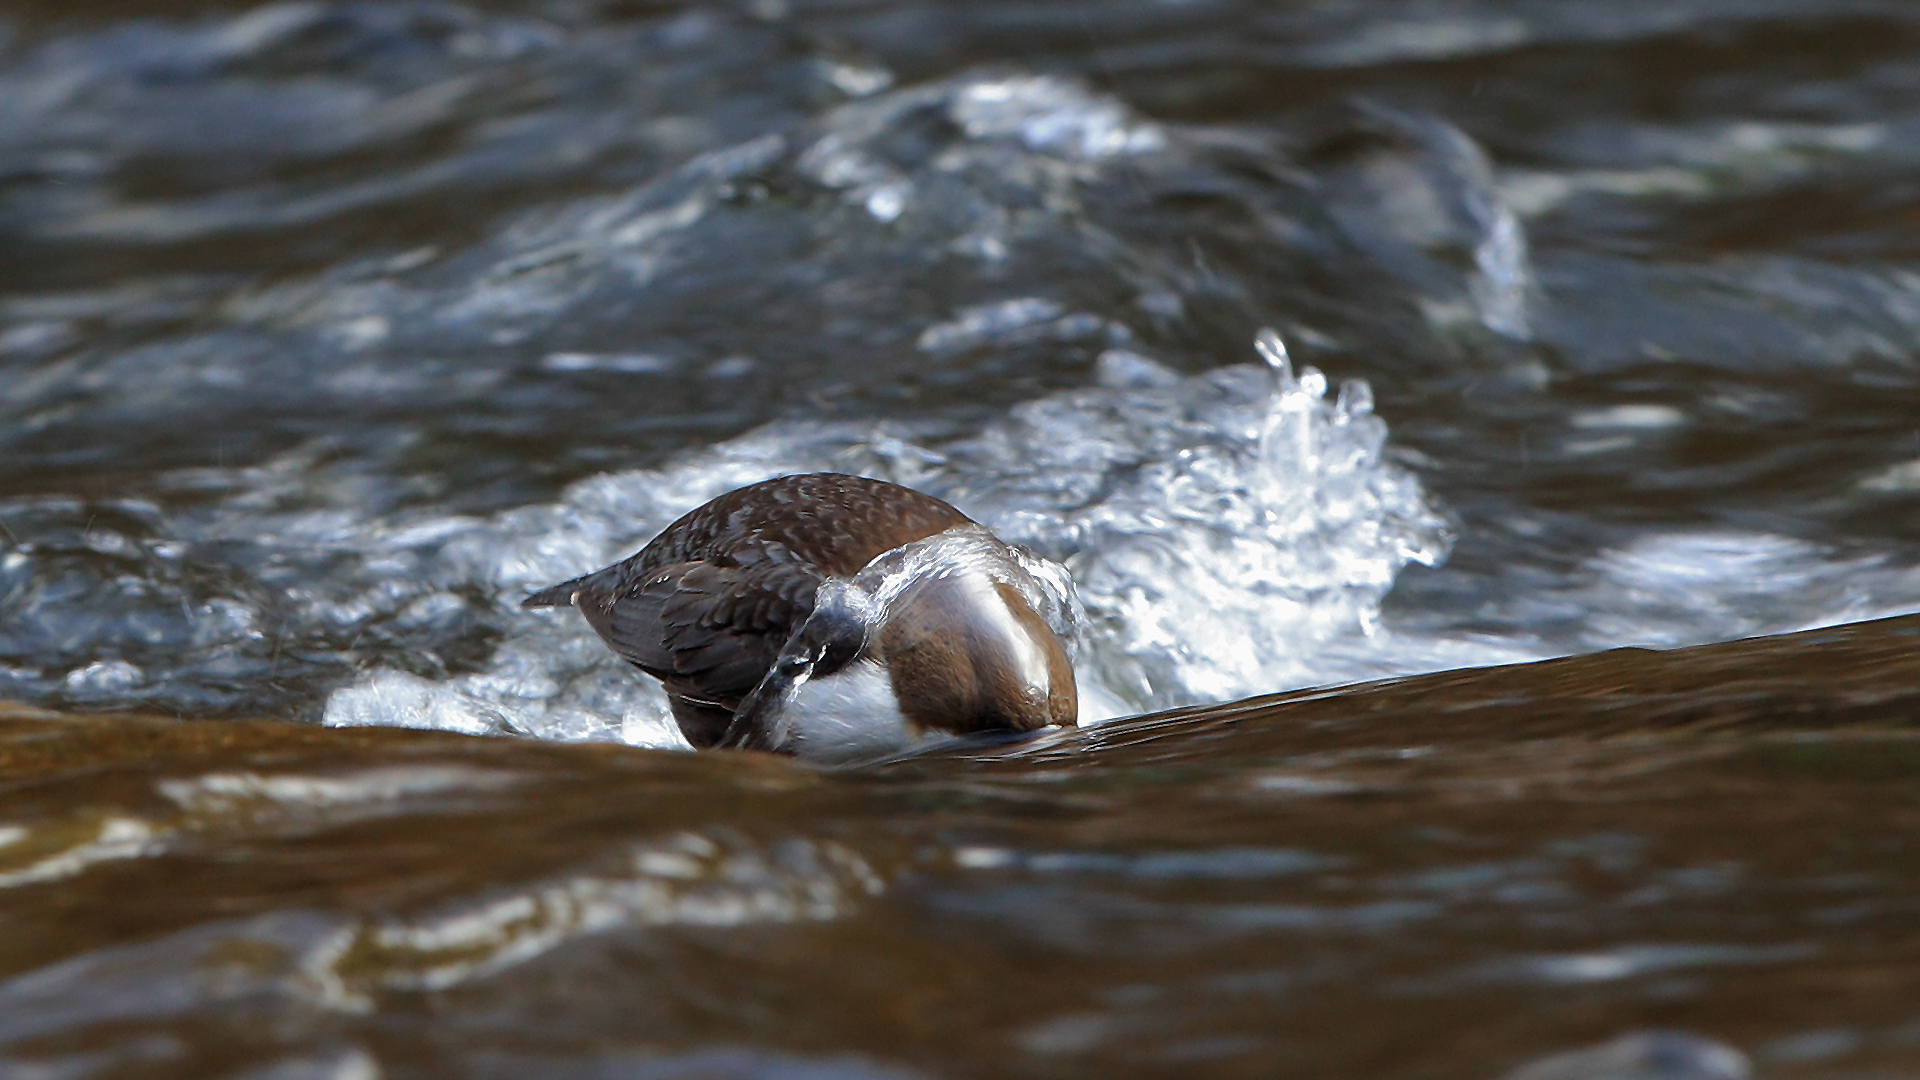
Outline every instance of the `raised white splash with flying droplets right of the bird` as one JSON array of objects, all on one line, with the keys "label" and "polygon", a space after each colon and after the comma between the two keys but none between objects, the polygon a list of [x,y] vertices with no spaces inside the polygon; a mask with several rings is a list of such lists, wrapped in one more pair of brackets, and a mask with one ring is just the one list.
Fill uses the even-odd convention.
[{"label": "raised white splash with flying droplets right of the bird", "polygon": [[1094,684],[1131,709],[1323,682],[1321,646],[1365,640],[1407,563],[1450,538],[1382,457],[1373,392],[1298,375],[1273,331],[1265,369],[1062,394],[950,448],[931,490],[1071,567]]}]

